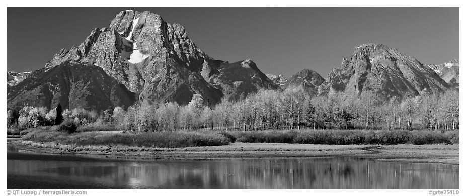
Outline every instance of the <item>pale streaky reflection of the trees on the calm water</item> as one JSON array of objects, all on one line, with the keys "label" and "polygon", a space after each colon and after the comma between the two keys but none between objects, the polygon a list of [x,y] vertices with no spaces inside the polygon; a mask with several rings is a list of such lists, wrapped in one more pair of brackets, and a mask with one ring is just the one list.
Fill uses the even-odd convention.
[{"label": "pale streaky reflection of the trees on the calm water", "polygon": [[457,188],[453,167],[358,158],[193,161],[143,167],[139,181],[162,188]]}]

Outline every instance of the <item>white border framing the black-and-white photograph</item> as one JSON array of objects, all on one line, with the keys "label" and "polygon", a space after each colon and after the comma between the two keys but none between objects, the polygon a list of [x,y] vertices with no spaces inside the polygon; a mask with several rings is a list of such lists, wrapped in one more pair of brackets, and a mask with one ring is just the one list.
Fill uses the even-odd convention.
[{"label": "white border framing the black-and-white photograph", "polygon": [[[116,7],[127,7],[128,2],[130,1],[90,1],[90,0],[82,0],[82,1],[9,1],[9,2],[3,2],[4,7],[2,9],[2,16],[4,17],[2,20],[2,27],[4,27],[4,31],[2,31],[2,34],[4,36],[4,44],[6,45],[6,27],[7,27],[7,7],[87,7],[87,6],[92,6],[92,7],[107,7],[107,6],[116,6]],[[464,2],[464,1],[463,1]],[[461,32],[464,31],[464,9],[463,7],[463,2],[460,1],[400,1],[400,0],[395,0],[395,1],[367,1],[367,0],[356,0],[356,1],[319,1],[319,2],[306,2],[306,1],[299,1],[299,0],[287,0],[287,1],[251,1],[251,0],[237,0],[237,1],[231,1],[231,2],[221,2],[221,1],[187,1],[187,0],[182,0],[182,1],[131,1],[131,7],[128,7],[128,9],[131,9],[133,7],[176,7],[176,6],[182,6],[182,7],[294,7],[294,6],[312,6],[312,7],[327,7],[327,6],[337,6],[337,7],[386,7],[386,6],[395,6],[395,7],[460,7],[460,35]],[[432,13],[435,14],[435,13]],[[464,39],[461,38],[459,39],[460,45],[459,45],[459,54],[460,54],[460,60],[464,60]],[[7,71],[7,59],[6,59],[6,47],[2,47],[2,52],[0,54],[3,55],[3,62],[4,66],[2,66],[2,69],[4,73]],[[460,80],[461,81],[466,81],[464,78],[464,73],[460,75]],[[4,82],[6,83],[5,79]],[[6,92],[6,85],[2,85],[2,91]],[[463,90],[460,90],[460,122],[466,122],[466,113],[464,112],[466,110],[466,106],[461,98],[466,97],[464,94]],[[3,110],[6,111],[6,93],[2,97],[3,103]],[[466,99],[465,99],[466,100]],[[465,113],[465,114],[463,114]],[[6,116],[5,113],[2,113],[2,124],[6,125]],[[6,126],[3,126],[4,129]],[[462,133],[462,129],[460,130],[461,136],[466,134],[466,132]],[[466,136],[465,136],[466,137]],[[460,145],[460,162],[464,161],[464,147],[461,147]],[[2,143],[2,151],[4,157],[6,157],[6,143]],[[3,190],[0,191],[6,191],[6,163],[7,160],[6,158],[3,159],[3,176],[2,178],[2,186]],[[464,176],[465,173],[464,171],[460,171],[460,183],[459,184],[464,184],[461,183],[462,176]],[[323,195],[323,194],[336,194],[336,195],[374,195],[376,194],[377,196],[379,195],[429,195],[428,190],[87,190],[88,194],[87,195],[157,195],[157,194],[180,194],[180,195],[225,195],[225,196],[238,196],[242,194],[248,194],[248,195],[253,195],[253,194],[262,194],[262,195],[284,195],[284,194],[300,194],[300,195]],[[461,190],[460,188],[460,194],[464,194],[465,190]],[[1,193],[0,193],[1,194]]]}]

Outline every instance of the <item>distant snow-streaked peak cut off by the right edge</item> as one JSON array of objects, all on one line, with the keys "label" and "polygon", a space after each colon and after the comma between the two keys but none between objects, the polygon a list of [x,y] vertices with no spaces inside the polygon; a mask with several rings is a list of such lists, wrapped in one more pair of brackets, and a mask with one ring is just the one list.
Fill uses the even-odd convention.
[{"label": "distant snow-streaked peak cut off by the right edge", "polygon": [[427,65],[452,87],[459,88],[459,60],[453,59],[440,65]]}]

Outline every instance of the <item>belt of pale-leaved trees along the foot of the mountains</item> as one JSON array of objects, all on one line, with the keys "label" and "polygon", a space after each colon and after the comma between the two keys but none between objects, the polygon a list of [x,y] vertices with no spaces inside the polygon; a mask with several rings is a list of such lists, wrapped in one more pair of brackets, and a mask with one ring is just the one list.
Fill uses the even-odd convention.
[{"label": "belt of pale-leaved trees along the foot of the mountains", "polygon": [[[213,108],[205,106],[201,95],[188,105],[140,102],[124,110],[108,109],[102,114],[84,109],[63,111],[63,120],[80,125],[115,124],[130,133],[270,129],[458,129],[459,92],[421,92],[419,96],[381,101],[363,93],[357,99],[344,94],[310,98],[302,88],[285,91],[260,90],[237,102],[222,100]],[[56,109],[26,106],[7,111],[8,126],[22,128],[53,125]]]}]

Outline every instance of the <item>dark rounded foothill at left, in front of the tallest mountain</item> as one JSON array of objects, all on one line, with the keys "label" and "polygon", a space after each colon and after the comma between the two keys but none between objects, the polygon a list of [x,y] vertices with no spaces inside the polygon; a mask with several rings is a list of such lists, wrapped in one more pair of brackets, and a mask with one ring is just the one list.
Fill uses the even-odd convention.
[{"label": "dark rounded foothill at left, in front of the tallest mountain", "polygon": [[109,107],[128,107],[134,103],[128,91],[102,68],[76,62],[33,71],[7,93],[7,108],[19,110],[25,105],[55,108],[85,108],[102,111]]}]

